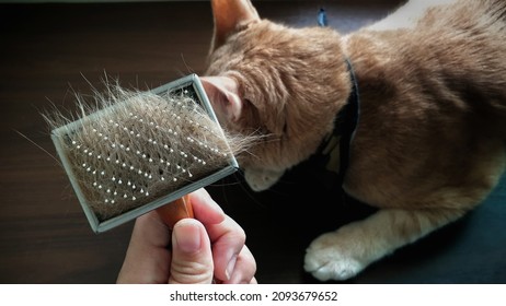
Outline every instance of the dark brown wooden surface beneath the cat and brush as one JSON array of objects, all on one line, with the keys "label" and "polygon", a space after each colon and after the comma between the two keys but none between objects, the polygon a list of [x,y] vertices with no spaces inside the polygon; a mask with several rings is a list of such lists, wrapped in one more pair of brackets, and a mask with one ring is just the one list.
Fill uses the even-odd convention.
[{"label": "dark brown wooden surface beneath the cat and brush", "polygon": [[[314,25],[320,7],[343,33],[384,16],[400,1],[255,1],[258,12]],[[113,283],[133,222],[90,229],[39,115],[71,107],[106,72],[153,87],[203,72],[212,28],[204,2],[0,5],[0,282]],[[21,137],[26,136],[41,148]],[[44,152],[47,151],[48,153]],[[306,181],[306,183],[302,183]],[[208,188],[246,231],[263,283],[313,283],[302,267],[319,233],[367,215],[329,195],[301,165],[273,190],[254,193],[240,175]],[[310,201],[300,199],[309,195]],[[373,264],[352,283],[505,283],[506,181],[475,212]]]}]

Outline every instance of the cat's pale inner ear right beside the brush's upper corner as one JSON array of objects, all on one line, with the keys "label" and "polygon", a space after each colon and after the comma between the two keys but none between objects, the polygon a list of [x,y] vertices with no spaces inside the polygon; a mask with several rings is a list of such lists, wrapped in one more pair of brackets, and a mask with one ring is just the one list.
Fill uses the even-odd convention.
[{"label": "cat's pale inner ear right beside the brush's upper corner", "polygon": [[237,81],[229,76],[202,76],[200,81],[218,119],[227,122],[238,120],[242,101]]}]

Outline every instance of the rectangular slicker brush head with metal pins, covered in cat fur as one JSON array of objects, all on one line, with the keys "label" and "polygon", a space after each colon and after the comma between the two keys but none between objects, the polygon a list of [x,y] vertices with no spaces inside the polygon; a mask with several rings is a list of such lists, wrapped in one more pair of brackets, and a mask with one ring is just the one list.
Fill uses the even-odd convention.
[{"label": "rectangular slicker brush head with metal pins, covered in cat fur", "polygon": [[232,174],[238,164],[196,74],[149,92],[111,87],[51,139],[95,232]]}]

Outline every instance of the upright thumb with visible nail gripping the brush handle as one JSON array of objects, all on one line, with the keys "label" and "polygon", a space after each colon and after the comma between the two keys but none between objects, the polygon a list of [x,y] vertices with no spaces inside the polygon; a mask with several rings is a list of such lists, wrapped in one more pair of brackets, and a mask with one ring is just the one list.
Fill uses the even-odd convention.
[{"label": "upright thumb with visible nail gripping the brush handle", "polygon": [[210,240],[204,225],[183,219],[172,232],[172,262],[169,283],[210,284],[214,275]]}]

